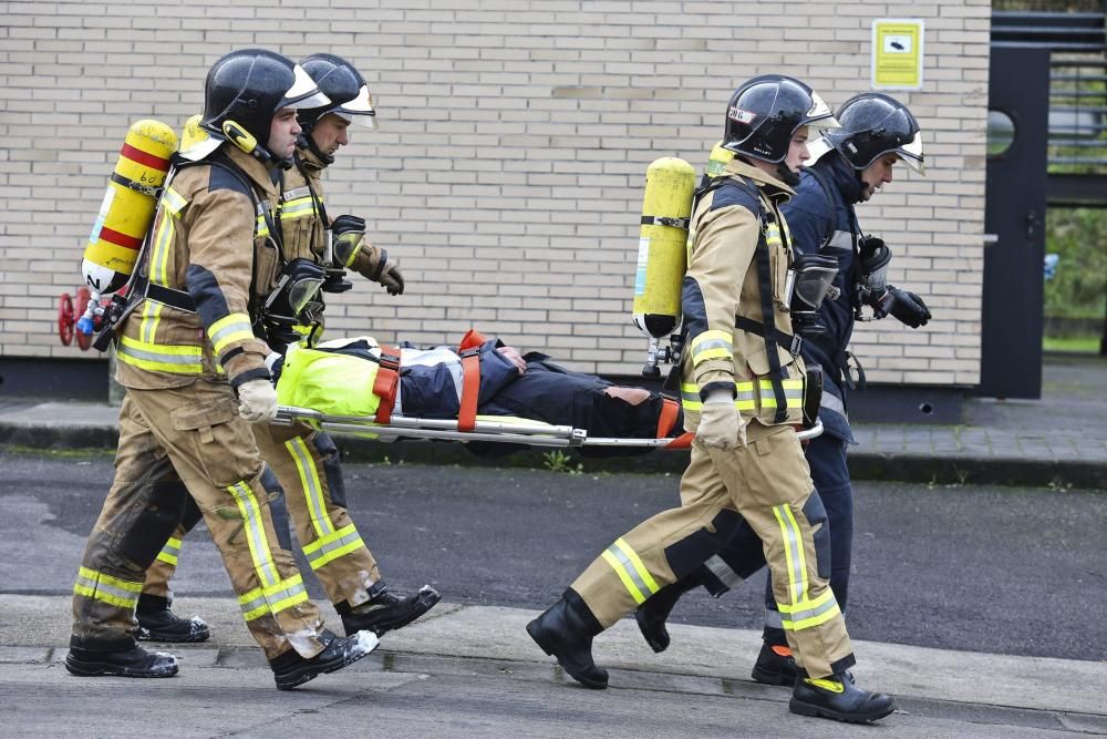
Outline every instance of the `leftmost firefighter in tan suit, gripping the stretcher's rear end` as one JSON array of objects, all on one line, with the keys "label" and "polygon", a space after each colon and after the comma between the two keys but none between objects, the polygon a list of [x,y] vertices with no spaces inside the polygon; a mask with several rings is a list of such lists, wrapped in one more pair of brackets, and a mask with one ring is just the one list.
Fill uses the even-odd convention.
[{"label": "leftmost firefighter in tan suit, gripping the stretcher's rear end", "polygon": [[279,254],[269,171],[291,158],[297,107],[325,103],[303,70],[270,51],[231,52],[208,72],[203,125],[210,138],[166,183],[117,327],[116,379],[127,396],[115,482],[73,588],[65,666],[74,675],[177,673],[173,655],[137,645],[134,616],[145,571],[184,515],[184,489],[279,689],[341,669],[377,644],[371,632],[338,637],[323,628],[288,533],[273,524],[276,480],[249,425],[277,409],[271,352],[249,316]]}]

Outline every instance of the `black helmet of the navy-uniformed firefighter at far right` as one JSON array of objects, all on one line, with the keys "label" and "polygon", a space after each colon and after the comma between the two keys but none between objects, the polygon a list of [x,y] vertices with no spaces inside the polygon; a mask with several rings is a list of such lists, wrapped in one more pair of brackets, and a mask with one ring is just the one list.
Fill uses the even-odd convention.
[{"label": "black helmet of the navy-uniformed firefighter at far right", "polygon": [[[847,100],[837,117],[841,127],[823,137],[855,170],[865,170],[880,156],[893,153],[914,172],[925,174],[919,122],[903,103],[879,92],[866,92]],[[815,152],[811,156],[818,158]]]}]

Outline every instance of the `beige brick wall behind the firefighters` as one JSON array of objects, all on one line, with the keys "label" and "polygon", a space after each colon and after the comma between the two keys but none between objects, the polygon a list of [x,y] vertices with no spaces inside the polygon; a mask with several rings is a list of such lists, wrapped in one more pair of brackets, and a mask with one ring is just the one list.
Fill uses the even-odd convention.
[{"label": "beige brick wall behind the firefighters", "polygon": [[[870,379],[974,384],[980,359],[990,3],[298,0],[6,2],[0,25],[0,356],[76,357],[56,297],[133,120],[178,127],[207,68],[263,45],[331,51],[370,81],[382,130],[355,132],[329,209],[365,216],[407,291],[331,300],[335,333],[453,341],[469,326],[588,371],[637,373],[630,325],[646,165],[697,167],[735,84],[799,76],[832,104],[866,91],[870,23],[921,18],[929,176],[860,211],[892,280],[938,318],[866,325]],[[474,10],[474,8],[479,8]],[[787,14],[785,14],[787,13]]]}]

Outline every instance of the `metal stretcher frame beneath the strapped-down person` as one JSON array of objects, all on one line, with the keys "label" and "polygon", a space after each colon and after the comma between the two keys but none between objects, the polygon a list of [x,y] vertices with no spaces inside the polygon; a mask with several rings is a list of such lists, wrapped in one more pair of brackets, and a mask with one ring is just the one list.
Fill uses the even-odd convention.
[{"label": "metal stretcher frame beneath the strapped-down person", "polygon": [[[490,419],[514,419],[510,421]],[[432,441],[489,441],[526,447],[548,447],[555,449],[579,447],[622,447],[679,450],[689,449],[692,434],[664,439],[640,439],[617,437],[589,437],[584,429],[571,425],[552,425],[518,417],[478,415],[473,430],[463,431],[458,421],[452,419],[425,419],[393,413],[387,424],[377,423],[371,415],[332,415],[310,408],[278,406],[273,423],[291,425],[297,421],[308,421],[324,431],[335,433],[374,434],[382,441],[399,438]],[[815,421],[810,429],[797,429],[800,441],[808,441],[823,433],[823,422]]]}]

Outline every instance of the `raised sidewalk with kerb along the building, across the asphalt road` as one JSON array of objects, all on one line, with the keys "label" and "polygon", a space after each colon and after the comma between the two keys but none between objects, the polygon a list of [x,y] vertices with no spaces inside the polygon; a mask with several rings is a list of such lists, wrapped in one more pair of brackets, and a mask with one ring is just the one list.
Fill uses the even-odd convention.
[{"label": "raised sidewalk with kerb along the building, across the asphalt road", "polygon": [[[1041,400],[969,399],[963,422],[856,423],[849,460],[858,480],[1107,489],[1107,358],[1051,356]],[[106,403],[0,397],[0,443],[53,450],[114,449],[117,409]],[[547,450],[484,462],[462,444],[380,443],[344,437],[352,461],[542,468]],[[589,472],[680,473],[686,452],[582,460]],[[571,462],[576,465],[577,461]]]}]

